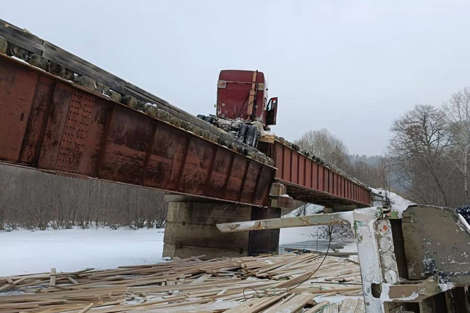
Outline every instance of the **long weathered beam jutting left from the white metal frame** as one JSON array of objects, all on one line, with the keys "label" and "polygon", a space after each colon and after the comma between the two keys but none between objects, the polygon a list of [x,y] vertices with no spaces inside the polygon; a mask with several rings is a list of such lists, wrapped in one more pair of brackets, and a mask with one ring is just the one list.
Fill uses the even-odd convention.
[{"label": "long weathered beam jutting left from the white metal frame", "polygon": [[217,224],[217,228],[223,232],[264,230],[287,227],[302,227],[314,225],[352,224],[352,212],[313,214],[307,216],[287,217],[280,219],[267,219],[258,221],[245,221],[235,223]]}]

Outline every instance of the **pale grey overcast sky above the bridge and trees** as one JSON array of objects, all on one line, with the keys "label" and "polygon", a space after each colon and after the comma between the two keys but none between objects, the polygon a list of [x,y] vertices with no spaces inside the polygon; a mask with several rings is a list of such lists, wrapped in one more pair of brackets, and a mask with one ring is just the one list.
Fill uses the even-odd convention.
[{"label": "pale grey overcast sky above the bridge and trees", "polygon": [[193,114],[221,69],[258,69],[273,131],[382,154],[392,121],[470,85],[470,1],[2,1],[0,18]]}]

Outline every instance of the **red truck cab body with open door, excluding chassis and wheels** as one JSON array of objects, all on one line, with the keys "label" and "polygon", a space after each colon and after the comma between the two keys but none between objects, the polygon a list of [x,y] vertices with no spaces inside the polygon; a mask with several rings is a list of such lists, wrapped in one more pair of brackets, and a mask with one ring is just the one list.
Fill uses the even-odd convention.
[{"label": "red truck cab body with open door, excluding chassis and wheels", "polygon": [[226,119],[258,121],[266,130],[276,125],[278,98],[268,100],[264,74],[258,70],[224,69],[217,82],[216,115]]}]

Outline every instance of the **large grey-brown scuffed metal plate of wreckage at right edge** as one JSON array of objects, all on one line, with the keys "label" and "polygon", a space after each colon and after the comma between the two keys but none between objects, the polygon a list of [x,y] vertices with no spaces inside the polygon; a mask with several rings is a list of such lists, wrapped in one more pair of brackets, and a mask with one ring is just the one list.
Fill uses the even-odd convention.
[{"label": "large grey-brown scuffed metal plate of wreckage at right edge", "polygon": [[402,224],[409,279],[470,284],[470,230],[452,209],[412,206]]}]

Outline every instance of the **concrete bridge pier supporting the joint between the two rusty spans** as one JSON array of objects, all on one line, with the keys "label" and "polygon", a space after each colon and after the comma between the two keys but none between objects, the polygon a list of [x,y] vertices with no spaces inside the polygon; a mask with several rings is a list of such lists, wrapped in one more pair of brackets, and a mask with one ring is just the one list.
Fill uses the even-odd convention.
[{"label": "concrete bridge pier supporting the joint between the two rusty spans", "polygon": [[166,195],[168,214],[163,256],[240,257],[278,253],[279,229],[221,233],[216,224],[281,217],[281,208],[259,208]]}]

